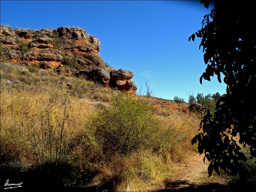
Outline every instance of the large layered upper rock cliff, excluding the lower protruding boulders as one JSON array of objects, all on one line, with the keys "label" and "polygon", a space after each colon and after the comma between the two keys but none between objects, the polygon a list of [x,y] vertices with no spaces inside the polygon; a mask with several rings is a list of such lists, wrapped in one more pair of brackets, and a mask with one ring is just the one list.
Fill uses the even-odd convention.
[{"label": "large layered upper rock cliff, excluding the lower protruding boulders", "polygon": [[[57,68],[61,66],[63,56],[66,56],[78,66],[104,66],[104,61],[99,55],[99,39],[87,35],[79,27],[34,31],[17,28],[9,30],[1,27],[0,34],[1,44],[5,47],[2,58],[7,61]],[[16,50],[15,46],[19,45],[17,40],[25,40],[28,50]],[[53,42],[54,40],[57,43]],[[54,44],[57,46],[54,47]]]}]

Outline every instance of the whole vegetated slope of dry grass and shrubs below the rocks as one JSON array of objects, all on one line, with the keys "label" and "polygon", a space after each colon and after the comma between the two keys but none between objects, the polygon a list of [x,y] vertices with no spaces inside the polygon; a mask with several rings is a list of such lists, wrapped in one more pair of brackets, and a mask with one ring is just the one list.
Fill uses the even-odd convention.
[{"label": "whole vegetated slope of dry grass and shrubs below the rocks", "polygon": [[147,97],[111,92],[83,77],[1,63],[1,183],[138,191],[174,178],[176,163],[196,150],[196,114],[161,115]]}]

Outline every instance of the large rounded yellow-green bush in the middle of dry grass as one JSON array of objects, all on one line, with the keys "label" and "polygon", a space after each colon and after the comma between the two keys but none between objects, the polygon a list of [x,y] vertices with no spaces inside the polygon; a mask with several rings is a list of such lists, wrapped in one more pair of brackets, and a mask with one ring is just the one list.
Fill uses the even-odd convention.
[{"label": "large rounded yellow-green bush in the middle of dry grass", "polygon": [[160,140],[161,122],[151,111],[150,105],[121,93],[108,108],[98,108],[90,116],[88,129],[94,131],[104,153],[146,149]]}]

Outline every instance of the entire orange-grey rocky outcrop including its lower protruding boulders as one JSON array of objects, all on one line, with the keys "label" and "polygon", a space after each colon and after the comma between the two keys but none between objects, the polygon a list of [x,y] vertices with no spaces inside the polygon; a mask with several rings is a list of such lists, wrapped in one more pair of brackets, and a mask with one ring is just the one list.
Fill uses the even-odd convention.
[{"label": "entire orange-grey rocky outcrop including its lower protruding boulders", "polygon": [[[26,30],[1,26],[0,34],[1,57],[6,61],[37,65],[43,69],[54,69],[58,73],[84,75],[105,87],[117,87],[118,90],[137,89],[130,80],[134,76],[133,72],[105,67],[99,55],[99,39],[87,35],[79,27]],[[69,69],[70,65],[75,69]]]}]

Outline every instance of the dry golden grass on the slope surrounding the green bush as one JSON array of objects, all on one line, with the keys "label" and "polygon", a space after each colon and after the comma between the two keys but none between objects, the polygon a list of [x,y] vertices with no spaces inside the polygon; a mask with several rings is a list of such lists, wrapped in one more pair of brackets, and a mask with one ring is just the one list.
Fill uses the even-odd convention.
[{"label": "dry golden grass on the slope surrounding the green bush", "polygon": [[[161,145],[128,154],[103,154],[100,145],[85,127],[91,112],[103,105],[109,106],[113,97],[111,91],[84,79],[51,76],[52,72],[40,70],[30,73],[1,63],[1,78],[20,81],[17,86],[11,87],[1,80],[1,156],[8,161],[15,160],[18,166],[23,167],[55,161],[55,158],[49,157],[49,150],[56,154],[62,137],[62,145],[65,146],[60,147],[59,151],[67,156],[67,161],[74,162],[78,170],[97,171],[87,184],[101,185],[109,182],[114,191],[150,191],[162,188],[166,178],[174,178],[177,163],[196,150],[190,142],[198,132],[197,116],[162,106],[159,108],[162,112],[155,111],[155,117],[160,118],[162,124],[159,134],[164,135]],[[71,83],[71,89],[65,86],[61,89],[57,83],[60,81]],[[100,91],[91,91],[89,87]],[[66,116],[63,94],[70,99],[66,106],[66,110],[69,110]],[[144,100],[139,96],[135,99]],[[153,104],[155,101],[158,102],[158,99],[146,100]],[[63,119],[66,121],[61,126]],[[44,125],[47,122],[51,125],[48,128],[53,127],[49,130],[54,132],[51,134],[55,144],[50,143],[50,137],[46,139],[49,131]],[[61,130],[64,132],[62,135]],[[33,138],[36,141],[33,142]],[[56,149],[49,149],[51,145]],[[39,146],[45,147],[48,152],[40,151]],[[78,172],[76,174],[82,175]]]}]

